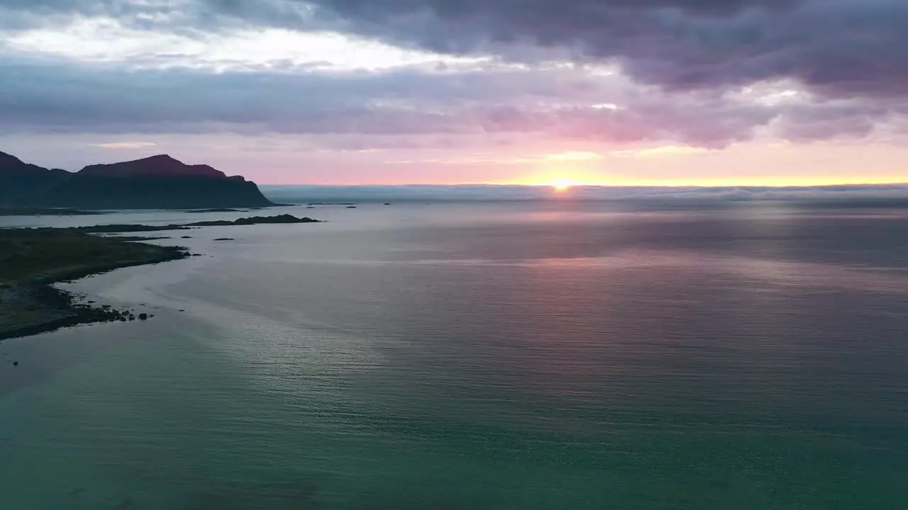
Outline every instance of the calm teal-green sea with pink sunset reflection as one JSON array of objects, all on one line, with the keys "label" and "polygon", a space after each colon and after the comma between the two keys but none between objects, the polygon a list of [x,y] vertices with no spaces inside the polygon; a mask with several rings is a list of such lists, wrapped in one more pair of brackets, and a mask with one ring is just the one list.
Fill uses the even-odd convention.
[{"label": "calm teal-green sea with pink sunset reflection", "polygon": [[0,508],[908,508],[908,210],[279,212],[0,343]]}]

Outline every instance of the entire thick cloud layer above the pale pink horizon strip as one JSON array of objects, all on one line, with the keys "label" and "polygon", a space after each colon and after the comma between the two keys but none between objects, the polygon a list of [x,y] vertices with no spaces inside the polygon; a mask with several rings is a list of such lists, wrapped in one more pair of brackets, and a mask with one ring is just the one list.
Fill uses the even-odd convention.
[{"label": "entire thick cloud layer above the pale pink horizon strip", "polygon": [[903,0],[0,0],[0,132],[901,140],[904,26]]}]

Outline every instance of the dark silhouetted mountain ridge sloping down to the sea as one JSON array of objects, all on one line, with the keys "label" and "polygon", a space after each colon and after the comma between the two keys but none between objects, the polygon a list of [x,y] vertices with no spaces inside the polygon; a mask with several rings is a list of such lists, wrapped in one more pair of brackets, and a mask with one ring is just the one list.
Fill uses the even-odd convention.
[{"label": "dark silhouetted mountain ridge sloping down to the sea", "polygon": [[0,207],[200,209],[274,205],[252,181],[168,155],[48,170],[0,152]]}]

